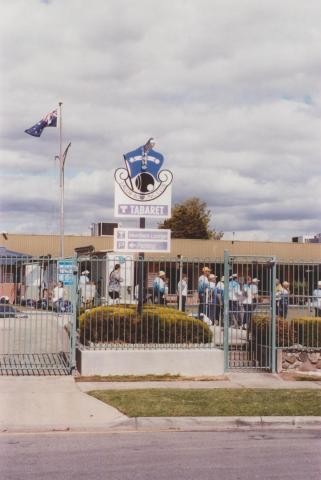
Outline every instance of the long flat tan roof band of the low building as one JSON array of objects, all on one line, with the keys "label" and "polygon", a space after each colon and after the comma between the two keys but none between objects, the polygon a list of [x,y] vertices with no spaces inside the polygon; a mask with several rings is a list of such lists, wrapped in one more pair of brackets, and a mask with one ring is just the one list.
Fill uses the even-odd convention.
[{"label": "long flat tan roof band of the low building", "polygon": [[[24,251],[33,256],[51,255],[59,257],[59,235],[10,234],[2,239],[8,249]],[[92,237],[89,235],[66,235],[65,256],[72,256],[75,248],[94,246],[96,251],[112,251],[113,237]],[[224,257],[224,250],[230,255],[275,256],[283,261],[321,263],[320,243],[255,242],[230,240],[187,240],[172,239],[170,254],[146,254],[146,258],[175,258],[182,255],[186,259],[218,259]]]}]

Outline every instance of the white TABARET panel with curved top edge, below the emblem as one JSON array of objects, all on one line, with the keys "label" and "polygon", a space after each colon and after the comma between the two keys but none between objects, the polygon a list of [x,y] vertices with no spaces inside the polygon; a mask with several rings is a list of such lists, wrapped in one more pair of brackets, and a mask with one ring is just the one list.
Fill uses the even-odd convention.
[{"label": "white TABARET panel with curved top edge, below the emblem", "polygon": [[170,218],[171,201],[171,185],[167,187],[160,197],[141,201],[129,198],[120,188],[119,184],[115,182],[115,217]]}]

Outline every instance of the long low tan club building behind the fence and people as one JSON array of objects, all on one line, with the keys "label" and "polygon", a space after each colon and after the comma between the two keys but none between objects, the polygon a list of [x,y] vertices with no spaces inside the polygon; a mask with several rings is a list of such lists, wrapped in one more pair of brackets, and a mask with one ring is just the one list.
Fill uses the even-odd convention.
[{"label": "long low tan club building behind the fence and people", "polygon": [[[58,258],[60,238],[58,235],[8,233],[5,237],[2,236],[0,246],[27,256]],[[103,260],[108,252],[113,252],[113,235],[66,235],[64,248],[66,257],[77,255],[81,258],[81,270],[88,269],[91,281],[97,283],[99,279],[98,274],[95,274],[95,261]],[[204,265],[209,265],[218,277],[223,275],[224,251],[232,256],[244,257],[244,263],[246,257],[276,257],[278,277],[282,281],[289,281],[291,285],[299,281],[309,284],[309,291],[306,292],[308,295],[311,295],[320,279],[321,243],[172,239],[170,253],[145,254],[146,286],[151,287],[157,272],[164,270],[169,279],[169,293],[175,295],[181,261],[182,268],[188,275],[189,289],[196,293],[197,279]],[[132,258],[137,265],[138,255],[134,254]],[[245,270],[244,264],[235,268],[239,275],[250,274],[261,278],[263,288],[265,272],[260,264],[256,265],[251,260],[251,270]]]}]

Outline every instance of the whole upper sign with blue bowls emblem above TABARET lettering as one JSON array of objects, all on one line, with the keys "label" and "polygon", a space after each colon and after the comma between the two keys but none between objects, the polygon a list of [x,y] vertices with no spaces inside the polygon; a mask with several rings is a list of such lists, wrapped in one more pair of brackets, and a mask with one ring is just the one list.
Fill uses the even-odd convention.
[{"label": "whole upper sign with blue bowls emblem above TABARET lettering", "polygon": [[173,174],[162,170],[164,157],[153,150],[152,138],[125,153],[126,168],[115,171],[115,217],[171,216]]}]

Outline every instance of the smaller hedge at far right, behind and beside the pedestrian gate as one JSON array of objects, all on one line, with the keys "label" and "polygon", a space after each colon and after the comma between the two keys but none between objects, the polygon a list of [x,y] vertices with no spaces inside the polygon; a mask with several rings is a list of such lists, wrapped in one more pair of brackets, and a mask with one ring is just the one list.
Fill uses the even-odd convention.
[{"label": "smaller hedge at far right, behind and beside the pedestrian gate", "polygon": [[[264,315],[253,317],[253,340],[260,345],[268,345],[271,320]],[[295,317],[276,319],[276,346],[321,348],[321,317]]]}]

